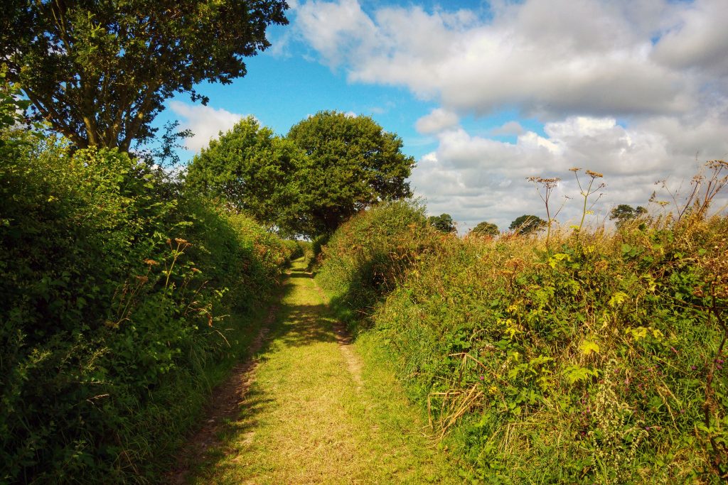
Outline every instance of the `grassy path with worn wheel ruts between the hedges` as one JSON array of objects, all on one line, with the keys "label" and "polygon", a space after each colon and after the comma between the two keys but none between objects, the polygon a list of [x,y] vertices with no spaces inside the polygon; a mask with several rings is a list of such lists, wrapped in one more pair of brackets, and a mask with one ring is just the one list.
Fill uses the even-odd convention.
[{"label": "grassy path with worn wheel ruts between the hedges", "polygon": [[213,417],[170,481],[459,483],[392,373],[360,358],[302,262],[271,319],[257,356],[221,390],[235,412]]}]

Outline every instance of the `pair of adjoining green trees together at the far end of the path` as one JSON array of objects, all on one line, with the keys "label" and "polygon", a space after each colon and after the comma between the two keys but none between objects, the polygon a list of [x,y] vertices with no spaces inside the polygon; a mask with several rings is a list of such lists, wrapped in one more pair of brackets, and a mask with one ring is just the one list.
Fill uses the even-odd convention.
[{"label": "pair of adjoining green trees together at the far end of the path", "polygon": [[315,239],[380,201],[411,196],[414,159],[401,148],[368,116],[322,111],[286,137],[251,117],[194,157],[187,184],[286,236]]}]

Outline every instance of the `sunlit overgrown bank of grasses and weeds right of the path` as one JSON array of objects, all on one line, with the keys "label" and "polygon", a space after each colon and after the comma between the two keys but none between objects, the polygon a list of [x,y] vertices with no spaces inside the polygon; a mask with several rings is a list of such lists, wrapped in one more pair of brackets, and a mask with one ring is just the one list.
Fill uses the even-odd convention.
[{"label": "sunlit overgrown bank of grasses and weeds right of the path", "polygon": [[465,476],[717,484],[728,219],[691,207],[547,247],[443,236],[392,204],[339,229],[318,281],[388,349]]}]

